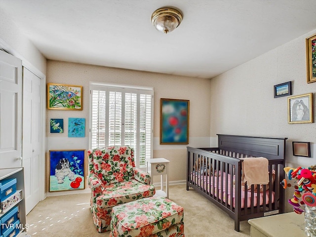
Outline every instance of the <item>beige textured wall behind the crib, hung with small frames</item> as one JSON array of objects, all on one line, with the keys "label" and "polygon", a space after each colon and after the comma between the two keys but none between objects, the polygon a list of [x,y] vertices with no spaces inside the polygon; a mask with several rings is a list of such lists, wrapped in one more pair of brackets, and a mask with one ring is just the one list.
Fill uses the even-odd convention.
[{"label": "beige textured wall behind the crib, hung with small frames", "polygon": [[[211,79],[212,138],[216,133],[287,137],[286,166],[316,164],[316,82],[307,83],[305,49],[305,39],[315,33]],[[292,96],[313,93],[314,123],[288,123],[288,97],[274,98],[273,92],[274,85],[286,81],[292,81]],[[293,156],[292,141],[311,142],[312,158]],[[287,199],[291,198],[294,189],[286,192]],[[292,210],[291,205],[286,208]]]}]

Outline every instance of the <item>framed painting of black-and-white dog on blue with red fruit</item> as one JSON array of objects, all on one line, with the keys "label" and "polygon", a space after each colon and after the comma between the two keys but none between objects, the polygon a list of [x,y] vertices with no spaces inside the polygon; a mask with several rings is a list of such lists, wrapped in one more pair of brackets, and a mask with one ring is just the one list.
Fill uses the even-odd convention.
[{"label": "framed painting of black-and-white dog on blue with red fruit", "polygon": [[49,151],[49,192],[84,189],[85,150]]}]

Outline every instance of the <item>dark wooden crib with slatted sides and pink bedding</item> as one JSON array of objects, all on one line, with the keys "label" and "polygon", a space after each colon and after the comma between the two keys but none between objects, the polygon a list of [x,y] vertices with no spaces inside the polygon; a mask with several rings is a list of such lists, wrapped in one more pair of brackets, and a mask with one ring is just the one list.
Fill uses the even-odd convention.
[{"label": "dark wooden crib with slatted sides and pink bedding", "polygon": [[[193,188],[239,222],[284,212],[285,141],[287,138],[218,135],[217,148],[187,147],[187,190]],[[242,159],[269,160],[269,184],[247,186]]]}]

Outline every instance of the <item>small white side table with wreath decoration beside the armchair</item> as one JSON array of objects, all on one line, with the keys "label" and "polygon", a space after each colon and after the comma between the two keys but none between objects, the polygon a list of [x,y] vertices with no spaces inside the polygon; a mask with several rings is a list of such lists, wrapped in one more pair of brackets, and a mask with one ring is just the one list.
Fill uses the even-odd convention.
[{"label": "small white side table with wreath decoration beside the armchair", "polygon": [[[146,165],[146,172],[148,172],[149,164],[151,165],[151,184],[154,182],[154,175],[160,175],[160,190],[156,190],[156,195],[158,197],[167,197],[169,198],[169,181],[168,181],[168,166],[169,166],[169,160],[165,158],[154,158],[154,159],[146,159],[147,165]],[[166,189],[164,192],[164,185],[163,185],[163,175],[166,176]]]}]

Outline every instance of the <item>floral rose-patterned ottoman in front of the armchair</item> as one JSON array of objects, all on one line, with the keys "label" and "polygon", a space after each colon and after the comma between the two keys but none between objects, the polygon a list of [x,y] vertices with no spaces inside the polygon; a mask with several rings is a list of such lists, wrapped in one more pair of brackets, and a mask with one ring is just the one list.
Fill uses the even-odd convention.
[{"label": "floral rose-patterned ottoman in front of the armchair", "polygon": [[114,206],[110,237],[184,237],[183,207],[165,197]]}]

